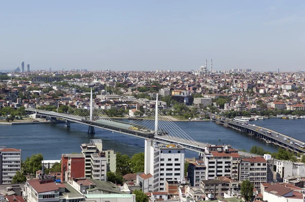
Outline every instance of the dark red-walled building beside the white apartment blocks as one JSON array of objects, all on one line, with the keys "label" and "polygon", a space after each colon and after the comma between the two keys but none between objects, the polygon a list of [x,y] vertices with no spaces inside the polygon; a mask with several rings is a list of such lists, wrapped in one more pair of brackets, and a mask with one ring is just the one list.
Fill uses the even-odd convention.
[{"label": "dark red-walled building beside the white apartment blocks", "polygon": [[[90,171],[91,171],[91,168],[90,168]],[[62,155],[62,180],[61,181],[62,182],[71,182],[73,178],[83,178],[83,177],[85,177],[85,155],[84,154],[63,154]]]}]

